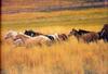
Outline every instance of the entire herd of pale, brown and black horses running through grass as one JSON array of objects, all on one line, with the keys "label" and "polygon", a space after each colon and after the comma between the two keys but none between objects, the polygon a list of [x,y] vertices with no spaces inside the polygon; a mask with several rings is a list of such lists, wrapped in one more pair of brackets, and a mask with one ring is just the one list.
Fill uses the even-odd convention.
[{"label": "entire herd of pale, brown and black horses running through grass", "polygon": [[11,39],[15,46],[51,46],[56,41],[66,41],[69,37],[75,36],[78,41],[83,41],[85,44],[97,42],[103,39],[108,42],[108,24],[105,24],[99,32],[90,32],[84,29],[75,29],[69,32],[69,34],[52,34],[45,35],[31,29],[25,30],[24,33],[17,33],[14,30],[9,30],[5,34],[4,39]]}]

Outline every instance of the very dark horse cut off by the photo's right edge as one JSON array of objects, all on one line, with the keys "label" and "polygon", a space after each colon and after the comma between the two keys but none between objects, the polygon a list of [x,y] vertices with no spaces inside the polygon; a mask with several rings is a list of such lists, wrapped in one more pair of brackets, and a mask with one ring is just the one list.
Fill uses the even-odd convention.
[{"label": "very dark horse cut off by the photo's right edge", "polygon": [[108,42],[108,24],[105,24],[99,32],[100,38],[105,41]]}]

